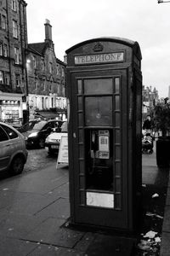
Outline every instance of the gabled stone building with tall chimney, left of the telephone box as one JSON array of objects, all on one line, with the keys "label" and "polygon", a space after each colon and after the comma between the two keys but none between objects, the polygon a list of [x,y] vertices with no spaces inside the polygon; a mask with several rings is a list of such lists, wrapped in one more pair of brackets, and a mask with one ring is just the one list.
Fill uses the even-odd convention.
[{"label": "gabled stone building with tall chimney, left of the telephone box", "polygon": [[65,63],[56,58],[49,20],[44,26],[44,42],[28,44],[26,51],[30,119],[49,109],[55,109],[58,116],[66,111]]}]

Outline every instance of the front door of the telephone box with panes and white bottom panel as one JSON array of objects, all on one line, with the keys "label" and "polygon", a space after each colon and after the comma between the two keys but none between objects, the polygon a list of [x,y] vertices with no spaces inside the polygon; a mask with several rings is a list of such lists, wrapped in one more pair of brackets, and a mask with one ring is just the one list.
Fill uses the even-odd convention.
[{"label": "front door of the telephone box with panes and white bottom panel", "polygon": [[67,67],[74,224],[133,229],[132,156],[129,159],[133,142],[128,127],[129,118],[133,122],[129,114],[131,72],[129,65]]}]

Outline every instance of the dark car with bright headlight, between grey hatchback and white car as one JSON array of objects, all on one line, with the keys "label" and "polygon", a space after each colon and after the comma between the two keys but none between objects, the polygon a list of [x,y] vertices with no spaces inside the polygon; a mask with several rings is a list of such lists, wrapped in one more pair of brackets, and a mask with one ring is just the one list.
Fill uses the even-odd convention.
[{"label": "dark car with bright headlight, between grey hatchback and white car", "polygon": [[44,143],[46,137],[51,133],[52,129],[57,129],[60,131],[60,126],[63,124],[63,121],[51,119],[48,121],[42,120],[35,124],[31,131],[26,131],[23,135],[26,137],[26,147],[38,147],[44,148]]}]

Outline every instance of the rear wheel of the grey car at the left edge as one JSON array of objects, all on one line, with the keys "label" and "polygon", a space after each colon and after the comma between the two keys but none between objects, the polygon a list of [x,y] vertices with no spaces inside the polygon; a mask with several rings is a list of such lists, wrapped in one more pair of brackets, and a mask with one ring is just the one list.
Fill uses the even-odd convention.
[{"label": "rear wheel of the grey car at the left edge", "polygon": [[13,175],[20,174],[24,169],[24,159],[22,156],[18,155],[14,157],[14,160],[12,161],[9,172]]}]

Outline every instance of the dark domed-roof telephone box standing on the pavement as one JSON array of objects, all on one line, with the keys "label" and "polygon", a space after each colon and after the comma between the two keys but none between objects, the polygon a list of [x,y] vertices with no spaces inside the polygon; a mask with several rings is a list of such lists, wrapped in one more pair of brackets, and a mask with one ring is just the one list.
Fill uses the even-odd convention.
[{"label": "dark domed-roof telephone box standing on the pavement", "polygon": [[94,38],[66,55],[71,223],[133,231],[142,184],[139,44]]}]

